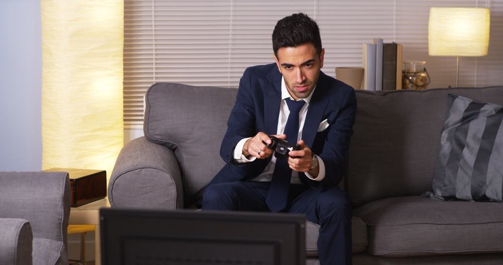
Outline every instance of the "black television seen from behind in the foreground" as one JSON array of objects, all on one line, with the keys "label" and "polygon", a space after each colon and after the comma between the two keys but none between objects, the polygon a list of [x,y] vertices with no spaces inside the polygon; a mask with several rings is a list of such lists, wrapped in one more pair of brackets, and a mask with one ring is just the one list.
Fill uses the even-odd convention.
[{"label": "black television seen from behind in the foreground", "polygon": [[301,214],[100,209],[102,263],[305,265]]}]

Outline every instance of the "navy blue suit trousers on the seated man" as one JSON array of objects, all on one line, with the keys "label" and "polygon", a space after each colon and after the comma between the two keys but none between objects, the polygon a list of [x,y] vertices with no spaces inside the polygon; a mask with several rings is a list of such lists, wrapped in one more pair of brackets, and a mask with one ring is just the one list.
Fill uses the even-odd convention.
[{"label": "navy blue suit trousers on the seated man", "polygon": [[[270,182],[230,182],[210,185],[203,194],[202,210],[270,212],[265,203]],[[319,189],[290,185],[288,206],[282,212],[304,213],[319,224],[320,264],[351,264],[352,208],[338,187]]]}]

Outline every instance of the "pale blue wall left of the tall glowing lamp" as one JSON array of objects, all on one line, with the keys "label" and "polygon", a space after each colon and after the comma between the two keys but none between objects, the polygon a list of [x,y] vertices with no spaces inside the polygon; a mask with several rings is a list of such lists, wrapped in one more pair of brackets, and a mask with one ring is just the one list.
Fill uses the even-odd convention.
[{"label": "pale blue wall left of the tall glowing lamp", "polygon": [[39,0],[0,1],[0,170],[42,167]]}]

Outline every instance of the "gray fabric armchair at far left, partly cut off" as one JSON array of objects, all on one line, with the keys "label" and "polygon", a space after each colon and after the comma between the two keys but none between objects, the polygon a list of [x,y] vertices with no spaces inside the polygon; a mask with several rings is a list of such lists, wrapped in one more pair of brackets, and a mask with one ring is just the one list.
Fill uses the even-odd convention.
[{"label": "gray fabric armchair at far left, partly cut off", "polygon": [[0,264],[68,264],[66,172],[0,172]]}]

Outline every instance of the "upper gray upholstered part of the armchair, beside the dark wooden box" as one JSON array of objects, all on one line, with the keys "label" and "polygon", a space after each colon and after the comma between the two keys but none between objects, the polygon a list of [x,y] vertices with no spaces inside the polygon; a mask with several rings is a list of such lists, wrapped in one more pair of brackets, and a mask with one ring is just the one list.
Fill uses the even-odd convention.
[{"label": "upper gray upholstered part of the armchair, beside the dark wooden box", "polygon": [[63,242],[70,215],[67,172],[0,172],[0,218],[30,222],[34,238]]}]

